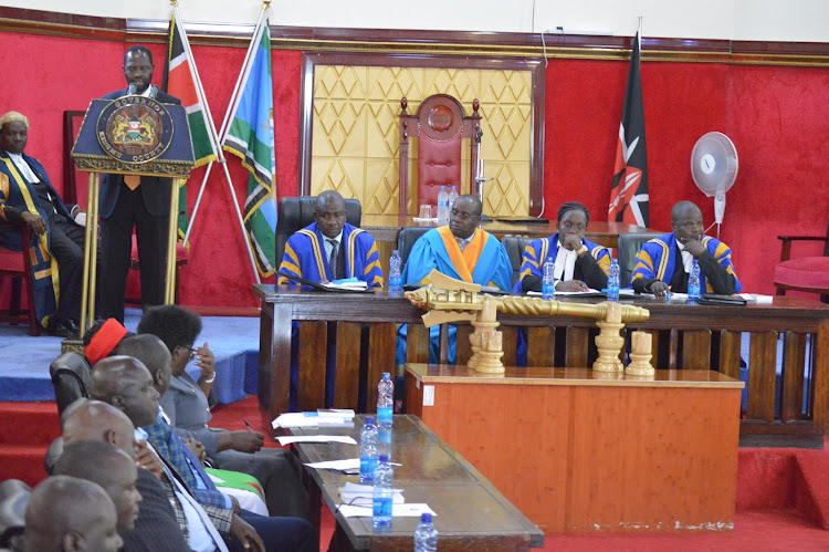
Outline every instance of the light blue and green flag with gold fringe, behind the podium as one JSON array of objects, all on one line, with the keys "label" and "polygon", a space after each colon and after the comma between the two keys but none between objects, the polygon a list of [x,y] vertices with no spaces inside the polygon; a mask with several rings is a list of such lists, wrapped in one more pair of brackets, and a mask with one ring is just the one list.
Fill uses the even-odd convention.
[{"label": "light blue and green flag with gold fringe, behind the podium", "polygon": [[274,174],[276,159],[273,133],[273,77],[267,20],[253,37],[254,49],[240,86],[231,123],[223,139],[227,152],[238,155],[250,170],[244,201],[244,228],[259,272],[275,272],[276,207]]}]

